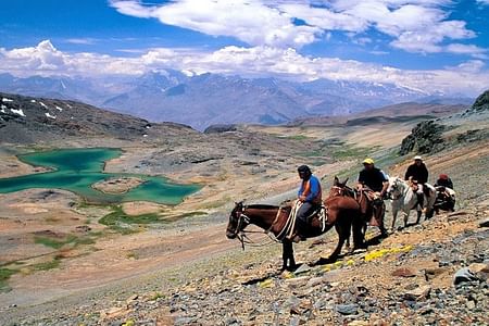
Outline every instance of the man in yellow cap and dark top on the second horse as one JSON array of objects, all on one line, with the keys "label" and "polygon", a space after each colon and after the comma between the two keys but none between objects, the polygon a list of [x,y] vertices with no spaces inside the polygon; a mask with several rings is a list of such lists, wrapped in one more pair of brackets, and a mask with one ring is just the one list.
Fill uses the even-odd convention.
[{"label": "man in yellow cap and dark top on the second horse", "polygon": [[[379,216],[383,212],[384,201],[387,188],[389,187],[389,179],[387,175],[380,168],[375,167],[375,162],[371,158],[363,161],[364,168],[360,172],[356,180],[356,188],[359,190],[367,190],[372,195],[372,202],[374,204],[374,217],[377,221],[380,233],[387,235],[387,230],[384,227],[384,218]],[[368,198],[368,196],[367,196]]]}]

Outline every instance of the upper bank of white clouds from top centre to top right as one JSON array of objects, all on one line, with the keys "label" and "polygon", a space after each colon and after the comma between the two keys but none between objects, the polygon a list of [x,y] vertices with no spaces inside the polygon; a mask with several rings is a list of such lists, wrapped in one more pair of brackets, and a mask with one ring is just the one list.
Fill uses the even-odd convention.
[{"label": "upper bank of white clouds from top centre to top right", "polygon": [[[442,52],[451,39],[475,33],[449,20],[451,0],[175,0],[145,5],[111,0],[120,13],[152,17],[212,36],[230,36],[250,46],[300,48],[328,32],[380,32],[391,46],[409,52]],[[297,24],[300,20],[304,24]],[[323,39],[323,38],[322,38]]]}]

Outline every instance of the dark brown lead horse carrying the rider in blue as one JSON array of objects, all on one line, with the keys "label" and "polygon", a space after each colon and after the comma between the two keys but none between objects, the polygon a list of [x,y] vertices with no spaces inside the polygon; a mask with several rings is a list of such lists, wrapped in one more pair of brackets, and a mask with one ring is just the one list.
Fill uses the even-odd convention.
[{"label": "dark brown lead horse carrying the rider in blue", "polygon": [[[341,253],[341,249],[346,239],[350,237],[352,221],[360,218],[359,203],[348,197],[327,198],[323,202],[326,221],[321,221],[318,214],[315,214],[310,223],[309,230],[304,235],[306,238],[317,237],[327,233],[335,226],[338,233],[338,243],[334,252],[325,261],[321,259],[318,263],[334,262]],[[293,221],[290,218],[289,210],[276,205],[249,204],[242,202],[235,203],[235,208],[229,214],[229,222],[226,228],[226,237],[228,239],[240,239],[243,241],[242,235],[244,228],[250,225],[256,225],[272,234],[275,239],[283,244],[283,265],[281,271],[294,271],[297,268],[293,256],[293,243],[287,237],[288,226]],[[356,247],[359,233],[354,231],[353,243]]]}]

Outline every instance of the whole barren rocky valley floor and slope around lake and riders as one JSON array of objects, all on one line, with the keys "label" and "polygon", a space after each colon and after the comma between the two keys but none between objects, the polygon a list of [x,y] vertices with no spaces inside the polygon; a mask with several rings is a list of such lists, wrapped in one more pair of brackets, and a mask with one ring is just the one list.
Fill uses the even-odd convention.
[{"label": "whole barren rocky valley floor and slope around lake and riders", "polygon": [[[4,96],[12,99],[5,102],[10,112],[11,106],[17,112],[21,109],[13,106],[15,101],[17,105],[29,102]],[[485,108],[485,103],[480,105]],[[488,174],[489,150],[487,134],[475,131],[488,128],[485,110],[464,109],[435,116],[435,123],[446,126],[440,137],[447,146],[427,152],[425,162],[430,180],[448,173],[454,181],[455,213],[443,213],[383,240],[372,229],[367,251],[344,255],[335,264],[314,265],[333,250],[333,231],[299,243],[296,256],[302,266],[294,273],[277,271],[281,248],[264,235],[253,240],[266,246],[244,251],[237,241],[225,238],[234,201],[278,203],[293,197],[298,183],[294,166],[299,164],[310,164],[326,189],[336,174],[354,176],[366,155],[373,155],[390,175],[402,175],[415,152],[405,156],[397,152],[419,122],[419,112],[412,120],[362,117],[362,123],[356,120],[338,125],[235,125],[206,134],[179,125],[151,124],[147,129],[146,122],[134,120],[105,137],[100,136],[102,131],[84,138],[45,139],[40,145],[27,138],[4,141],[8,138],[2,136],[1,177],[36,172],[36,167],[16,160],[17,153],[99,146],[124,150],[121,158],[106,163],[106,171],[161,174],[205,186],[177,206],[146,202],[90,206],[75,195],[55,189],[0,195],[0,269],[20,271],[7,278],[2,274],[10,291],[0,293],[0,323],[489,323],[485,313],[488,237],[487,227],[481,226],[489,211],[489,184],[481,177]],[[147,129],[148,136],[124,136],[124,126],[133,124]],[[173,222],[140,224],[137,233],[123,235],[100,223],[114,213],[129,218],[159,214]],[[61,246],[48,247],[38,239]],[[461,271],[459,278],[468,279],[459,279],[455,285],[455,274],[464,267],[471,272]]]}]

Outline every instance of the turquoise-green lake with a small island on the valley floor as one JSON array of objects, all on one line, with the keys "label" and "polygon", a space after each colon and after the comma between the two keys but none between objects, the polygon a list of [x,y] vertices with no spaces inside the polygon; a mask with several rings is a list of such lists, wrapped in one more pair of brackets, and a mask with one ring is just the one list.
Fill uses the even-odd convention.
[{"label": "turquoise-green lake with a small island on the valley floor", "polygon": [[[59,188],[70,190],[92,203],[117,203],[126,201],[151,201],[162,204],[178,204],[186,196],[201,188],[199,185],[178,185],[163,177],[140,174],[103,173],[104,162],[118,158],[120,149],[88,148],[61,149],[18,155],[34,166],[46,166],[52,172],[30,174],[12,178],[0,178],[0,193],[30,188]],[[121,195],[109,195],[91,188],[92,184],[113,177],[138,177],[145,180]]]}]

